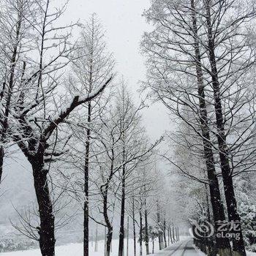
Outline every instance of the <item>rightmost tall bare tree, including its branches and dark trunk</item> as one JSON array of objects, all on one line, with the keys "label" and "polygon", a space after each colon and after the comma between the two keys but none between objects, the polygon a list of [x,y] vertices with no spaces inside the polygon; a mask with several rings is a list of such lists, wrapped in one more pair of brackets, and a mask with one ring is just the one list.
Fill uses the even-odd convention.
[{"label": "rightmost tall bare tree, including its branches and dark trunk", "polygon": [[[206,28],[207,28],[207,39],[208,39],[208,61],[210,62],[209,75],[211,75],[211,84],[214,91],[214,109],[216,115],[216,126],[217,126],[217,140],[219,146],[219,161],[222,169],[222,178],[225,190],[225,198],[227,203],[227,213],[228,218],[231,221],[239,222],[239,230],[233,230],[238,234],[238,239],[233,239],[233,251],[235,255],[246,255],[244,248],[244,240],[241,231],[241,218],[238,214],[237,210],[237,202],[236,195],[233,187],[233,178],[232,178],[232,170],[230,168],[229,157],[229,147],[227,145],[227,135],[230,135],[228,129],[225,129],[225,124],[227,124],[227,120],[233,120],[234,115],[238,115],[239,109],[243,108],[243,105],[250,105],[253,102],[250,99],[246,99],[244,102],[244,97],[241,94],[244,94],[244,90],[240,88],[240,83],[243,86],[246,84],[243,83],[244,78],[246,78],[247,72],[255,63],[255,49],[251,43],[246,42],[249,35],[247,31],[244,30],[246,28],[246,23],[249,20],[256,17],[256,12],[254,10],[254,4],[249,4],[248,6],[241,7],[238,10],[238,15],[231,17],[230,20],[226,21],[224,17],[225,13],[230,14],[232,12],[233,6],[229,1],[223,1],[222,5],[219,7],[213,6],[213,1],[205,2],[205,12],[206,15]],[[250,10],[248,10],[249,8]],[[253,8],[251,10],[251,8]],[[224,16],[223,16],[224,15]],[[216,29],[216,21],[215,18],[218,18],[218,23],[222,23],[222,31],[225,34],[223,37],[222,34],[218,35],[218,37],[214,37],[214,33],[218,30]],[[230,25],[231,21],[231,25]],[[244,39],[241,42],[241,33],[243,34]],[[245,42],[244,42],[245,40]],[[225,45],[227,42],[228,45]],[[230,49],[231,48],[231,49]],[[225,50],[225,58],[224,56],[218,53],[218,50]],[[246,57],[244,58],[244,54]],[[229,66],[228,69],[224,68],[224,72],[222,71],[222,67]],[[239,67],[237,67],[237,65]],[[230,81],[230,75],[234,75],[236,73],[235,81]],[[225,78],[222,80],[222,75],[225,75]],[[221,88],[225,87],[225,91],[228,93],[223,96],[221,95]],[[236,93],[236,90],[238,92]],[[248,90],[248,89],[247,89]],[[225,112],[225,102],[228,99],[228,102],[233,102],[232,94],[236,94],[238,99],[233,103],[233,106],[228,110],[231,112],[230,114]],[[254,94],[254,93],[253,93]],[[249,101],[248,101],[249,100]],[[238,108],[237,108],[238,107]],[[233,112],[235,109],[236,112]],[[254,108],[253,113],[246,114],[246,118],[253,118],[254,116]],[[226,120],[225,120],[226,118]],[[239,118],[239,122],[243,122],[245,124],[244,118]],[[246,129],[250,129],[252,123],[249,124],[249,127],[246,126]],[[231,124],[230,128],[236,129],[236,124]],[[241,135],[240,135],[241,136]],[[239,136],[239,137],[240,137]],[[243,136],[241,136],[243,137]],[[252,135],[249,135],[249,139]],[[253,136],[254,137],[254,136]],[[240,140],[241,138],[238,138]],[[248,137],[246,137],[248,140]],[[242,143],[244,144],[244,143]],[[241,144],[239,145],[242,146]],[[232,155],[232,153],[231,153]]]}]

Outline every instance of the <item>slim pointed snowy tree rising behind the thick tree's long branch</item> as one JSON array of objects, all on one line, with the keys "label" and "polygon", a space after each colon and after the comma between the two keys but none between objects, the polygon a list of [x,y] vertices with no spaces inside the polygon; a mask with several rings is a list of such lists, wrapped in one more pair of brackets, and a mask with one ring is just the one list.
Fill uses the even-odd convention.
[{"label": "slim pointed snowy tree rising behind the thick tree's long branch", "polygon": [[[78,42],[78,49],[75,50],[75,60],[72,61],[73,75],[72,90],[79,91],[80,94],[90,94],[95,89],[99,88],[105,80],[108,80],[113,73],[113,56],[108,53],[105,44],[104,31],[99,23],[96,14],[91,15],[91,18],[81,32],[80,40]],[[101,101],[101,102],[99,102]],[[94,124],[99,121],[100,112],[105,108],[108,99],[99,97],[96,101],[89,101],[86,104],[86,124],[80,120],[79,125],[83,124],[85,129],[79,133],[86,131],[86,145],[85,145],[85,163],[83,168],[84,184],[83,184],[83,255],[89,255],[89,165],[90,165],[90,151],[91,151],[91,137],[94,136],[94,129],[97,129]],[[78,111],[78,116],[80,112]],[[97,120],[98,119],[98,120]]]}]

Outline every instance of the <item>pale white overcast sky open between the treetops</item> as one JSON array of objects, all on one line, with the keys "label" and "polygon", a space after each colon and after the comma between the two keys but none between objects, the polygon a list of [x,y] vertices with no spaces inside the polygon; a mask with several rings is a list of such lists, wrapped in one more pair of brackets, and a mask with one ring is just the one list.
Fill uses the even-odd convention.
[{"label": "pale white overcast sky open between the treetops", "polygon": [[[143,11],[149,7],[150,0],[69,0],[64,15],[66,23],[75,20],[86,22],[93,12],[97,13],[106,30],[108,48],[116,58],[116,69],[124,75],[133,94],[146,73],[144,59],[140,55],[140,39],[143,31],[151,29],[142,17]],[[143,117],[152,139],[159,138],[165,129],[170,129],[165,107],[160,104],[145,110]]]}]

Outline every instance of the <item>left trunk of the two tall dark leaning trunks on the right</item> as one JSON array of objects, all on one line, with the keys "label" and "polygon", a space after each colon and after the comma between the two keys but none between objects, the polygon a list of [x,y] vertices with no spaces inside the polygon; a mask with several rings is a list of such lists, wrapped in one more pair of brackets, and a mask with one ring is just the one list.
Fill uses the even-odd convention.
[{"label": "left trunk of the two tall dark leaning trunks on the right", "polygon": [[197,20],[195,11],[195,1],[191,0],[192,7],[192,21],[193,21],[193,32],[195,37],[195,59],[196,59],[196,72],[197,72],[197,84],[198,84],[198,96],[200,105],[200,122],[203,135],[203,150],[206,159],[206,169],[209,181],[209,190],[211,197],[211,206],[214,214],[214,230],[216,233],[216,244],[217,252],[219,255],[230,255],[230,243],[227,238],[222,238],[218,230],[217,223],[219,221],[225,221],[225,211],[222,204],[219,181],[216,175],[215,165],[214,165],[214,153],[211,146],[210,132],[208,128],[208,113],[206,110],[206,97],[203,84],[203,70],[200,57],[200,47],[197,35]]}]

